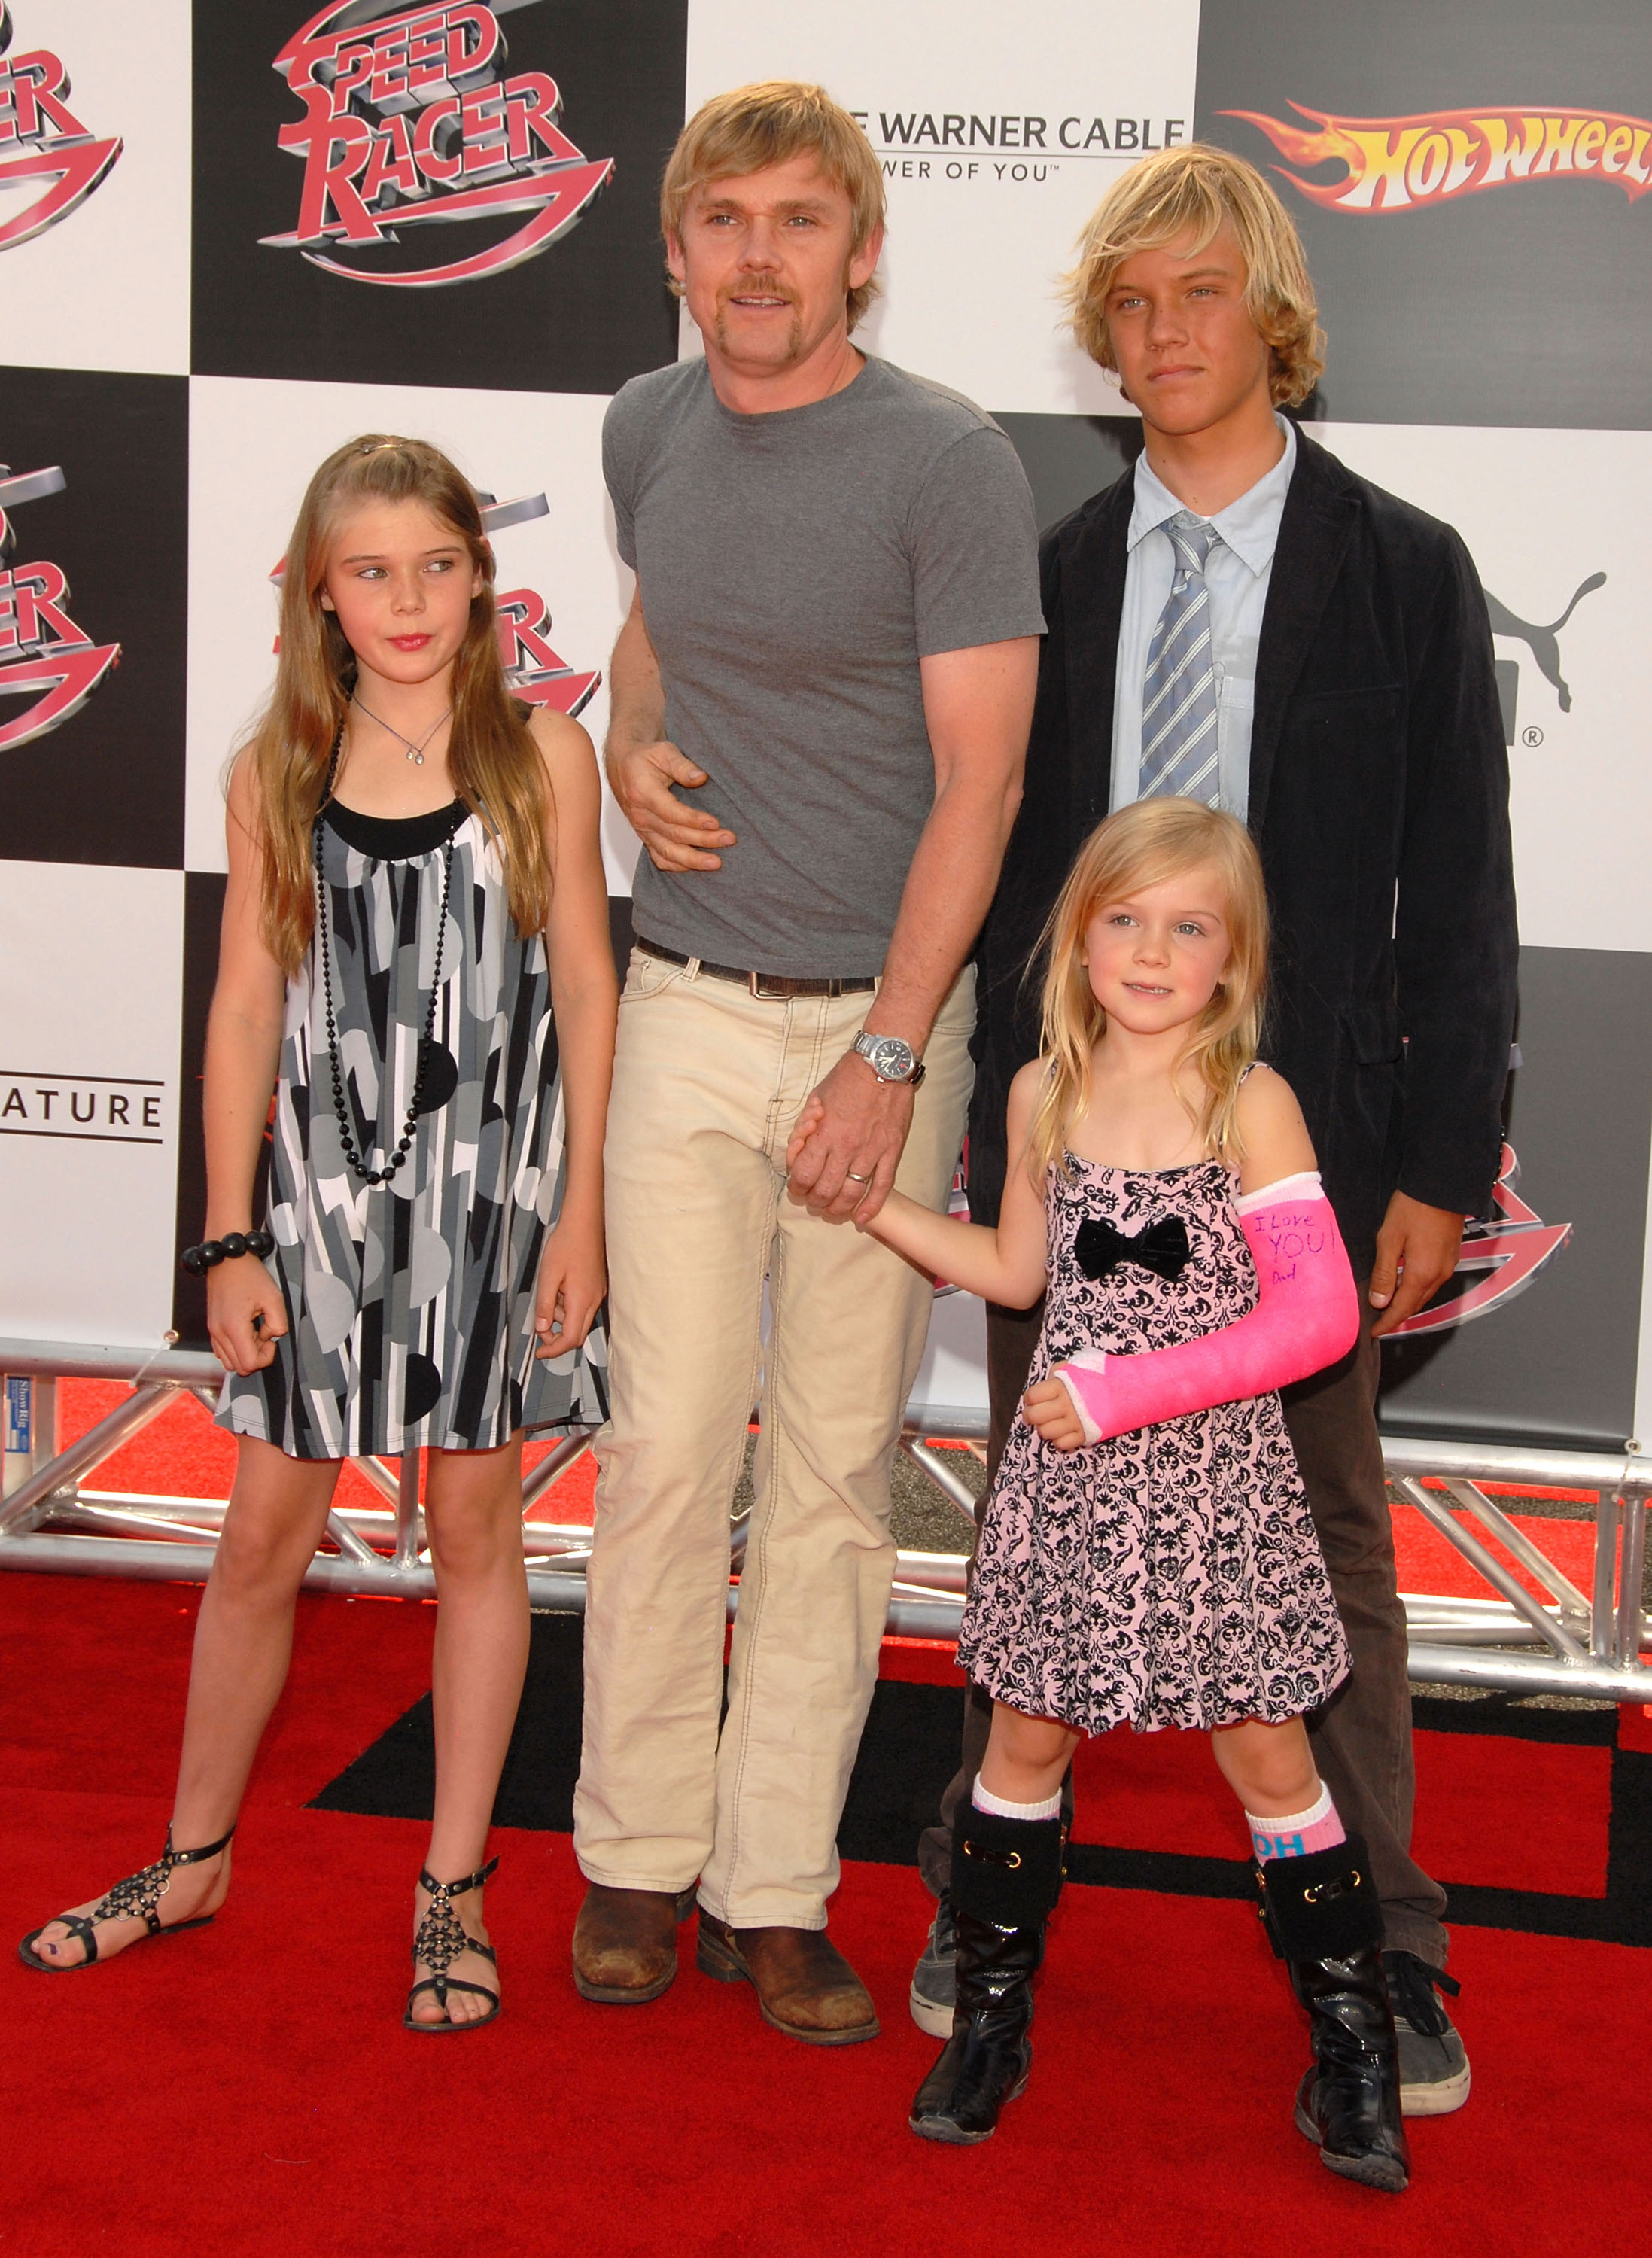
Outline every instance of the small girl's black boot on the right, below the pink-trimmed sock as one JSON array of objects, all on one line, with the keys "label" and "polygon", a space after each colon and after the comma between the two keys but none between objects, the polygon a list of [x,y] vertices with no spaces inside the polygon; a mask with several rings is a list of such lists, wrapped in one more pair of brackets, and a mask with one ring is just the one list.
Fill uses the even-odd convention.
[{"label": "small girl's black boot on the right, below the pink-trimmed sock", "polygon": [[1313,2068],[1295,2125],[1343,2179],[1397,2195],[1411,2179],[1399,2123],[1399,2046],[1383,1983],[1383,1917],[1361,1836],[1259,1870],[1273,1949],[1309,2012]]}]

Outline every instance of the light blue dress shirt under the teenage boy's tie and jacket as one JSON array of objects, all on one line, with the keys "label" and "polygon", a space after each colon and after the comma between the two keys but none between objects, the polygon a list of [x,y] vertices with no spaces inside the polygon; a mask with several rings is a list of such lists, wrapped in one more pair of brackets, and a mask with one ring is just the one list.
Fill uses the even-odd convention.
[{"label": "light blue dress shirt under the teenage boy's tie and jacket", "polygon": [[[1273,470],[1207,519],[1219,533],[1205,560],[1210,589],[1210,644],[1216,664],[1216,804],[1239,822],[1250,806],[1250,720],[1257,704],[1257,639],[1262,610],[1268,601],[1273,551],[1280,540],[1284,492],[1295,470],[1295,429],[1284,415],[1284,454]],[[1165,519],[1187,504],[1149,470],[1146,456],[1135,461],[1135,508],[1131,510],[1124,569],[1124,616],[1119,619],[1119,673],[1113,691],[1113,806],[1126,808],[1140,797],[1142,779],[1142,677],[1146,646],[1158,614],[1165,610],[1176,576]]]}]

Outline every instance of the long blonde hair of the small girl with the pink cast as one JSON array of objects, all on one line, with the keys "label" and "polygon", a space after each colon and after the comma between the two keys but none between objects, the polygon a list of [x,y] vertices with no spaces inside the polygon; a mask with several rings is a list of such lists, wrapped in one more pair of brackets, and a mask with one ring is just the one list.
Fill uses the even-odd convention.
[{"label": "long blonde hair of the small girl with the pink cast", "polygon": [[1216,1161],[1239,1158],[1234,1109],[1239,1082],[1262,1041],[1268,969],[1262,860],[1246,826],[1219,808],[1198,799],[1137,799],[1108,815],[1083,842],[1038,942],[1038,953],[1049,957],[1040,1021],[1047,1073],[1034,1109],[1027,1170],[1040,1190],[1052,1161],[1065,1167],[1067,1124],[1090,1104],[1090,1052],[1108,1023],[1081,962],[1086,928],[1104,903],[1178,878],[1201,863],[1221,872],[1230,955],[1216,994],[1187,1030],[1180,1064],[1192,1066],[1205,1086],[1203,1106],[1189,1106],[1205,1152]]}]

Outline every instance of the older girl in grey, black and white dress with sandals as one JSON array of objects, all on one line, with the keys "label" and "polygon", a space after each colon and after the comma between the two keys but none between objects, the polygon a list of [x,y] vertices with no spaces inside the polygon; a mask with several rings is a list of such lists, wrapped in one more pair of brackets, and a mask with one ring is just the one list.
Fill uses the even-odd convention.
[{"label": "older girl in grey, black and white dress with sandals", "polygon": [[528,1653],[521,1436],[603,1416],[600,1339],[582,1344],[605,1292],[616,978],[591,743],[508,695],[492,576],[476,492],[433,447],[352,440],[311,479],[275,693],[228,784],[208,1023],[208,1328],[235,1490],[167,1849],[36,1931],[36,1969],[223,1903],[339,1468],[424,1445],[436,1818],[404,2021],[499,2012],[481,1888]]}]

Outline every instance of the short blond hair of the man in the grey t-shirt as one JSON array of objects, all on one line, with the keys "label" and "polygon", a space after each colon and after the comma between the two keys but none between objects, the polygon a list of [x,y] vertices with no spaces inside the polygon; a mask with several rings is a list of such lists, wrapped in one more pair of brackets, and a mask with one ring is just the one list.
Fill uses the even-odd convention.
[{"label": "short blond hair of the man in the grey t-shirt", "polygon": [[[666,178],[659,183],[659,228],[666,242],[682,239],[682,215],[697,187],[736,181],[770,165],[812,156],[821,174],[849,196],[853,215],[851,255],[864,251],[882,226],[882,167],[871,142],[849,111],[824,86],[801,79],[761,79],[702,102],[677,135]],[[670,278],[682,298],[682,282]],[[878,296],[873,280],[849,291],[849,327]]]}]

